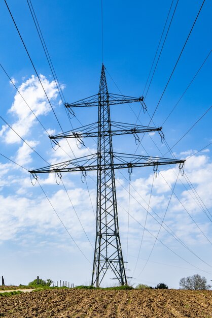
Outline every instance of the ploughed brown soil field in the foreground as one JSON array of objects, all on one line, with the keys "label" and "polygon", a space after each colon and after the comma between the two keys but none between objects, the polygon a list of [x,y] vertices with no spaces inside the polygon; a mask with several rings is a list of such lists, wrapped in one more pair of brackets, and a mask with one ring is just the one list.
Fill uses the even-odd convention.
[{"label": "ploughed brown soil field in the foreground", "polygon": [[0,317],[210,318],[212,291],[43,290],[0,298]]}]

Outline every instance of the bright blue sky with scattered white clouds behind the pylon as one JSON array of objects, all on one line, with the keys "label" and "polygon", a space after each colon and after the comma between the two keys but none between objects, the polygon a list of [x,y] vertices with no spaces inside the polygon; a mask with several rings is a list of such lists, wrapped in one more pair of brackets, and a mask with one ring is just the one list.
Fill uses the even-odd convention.
[{"label": "bright blue sky with scattered white clouds behind the pylon", "polygon": [[[175,4],[176,1],[173,2],[171,14]],[[201,4],[200,1],[183,2],[180,0],[176,7],[145,100],[150,115],[153,114],[158,104]],[[37,0],[32,1],[32,5],[65,100],[72,103],[97,93],[102,63],[101,1],[42,2]],[[110,92],[119,93],[118,86],[123,94],[142,96],[170,5],[171,1],[165,0],[162,2],[133,1],[130,4],[127,1],[103,1],[103,60]],[[59,99],[27,2],[8,0],[8,6],[31,59],[41,75],[41,80],[62,128],[64,131],[68,131],[70,123]],[[4,2],[0,4],[0,15],[1,65],[19,87],[19,91],[37,114],[45,129],[51,134],[60,133],[59,125],[44,96]],[[168,23],[169,21],[170,17]],[[211,6],[208,1],[205,1],[154,115],[156,126],[162,125],[210,50]],[[163,125],[165,140],[170,147],[178,142],[211,106],[211,56],[209,55],[184,97]],[[2,69],[0,71],[2,92],[0,115],[46,161],[57,163],[67,160],[68,157],[62,149],[57,151],[52,149],[50,140],[40,123],[33,117]],[[130,106],[133,112],[128,105],[111,107],[112,120],[135,123],[140,105],[131,104]],[[94,122],[97,120],[97,109],[78,109],[76,117],[83,124]],[[148,124],[149,119],[148,114],[142,112],[139,123]],[[72,119],[72,124],[74,128],[80,126],[76,118]],[[2,120],[0,136],[0,152],[11,160],[29,170],[46,166],[42,158],[33,153]],[[194,128],[173,147],[172,151],[176,157],[185,159],[210,142],[211,111],[208,111]],[[87,148],[80,150],[74,141],[70,144],[76,156],[88,153]],[[85,144],[90,151],[96,151],[96,144],[93,140],[86,139]],[[114,137],[113,144],[114,150],[117,152],[134,153],[136,149],[133,136]],[[166,145],[161,143],[158,134],[151,135],[151,138],[146,135],[142,145],[144,148],[139,146],[137,154],[146,154],[145,151],[147,151],[150,155],[161,156],[161,153],[167,152]],[[61,148],[69,152],[65,141],[61,142]],[[167,153],[166,156],[171,157],[170,153]],[[211,167],[211,146],[186,161],[186,176],[196,189],[199,201],[194,196],[194,192],[189,189],[185,176],[181,176],[181,174],[174,188],[174,193],[180,201],[174,195],[171,196],[170,188],[173,188],[175,184],[178,168],[173,167],[172,170],[170,167],[161,167],[160,173],[154,179],[148,211],[152,215],[155,215],[155,211],[163,218],[168,206],[164,227],[167,225],[201,260],[209,265],[212,261],[209,241],[212,238],[211,221],[206,214],[211,211],[212,206]],[[158,238],[166,246],[159,241],[156,242],[149,262],[140,274],[155,241],[154,237],[145,231],[139,260],[134,270],[143,236],[141,225],[145,224],[148,210],[147,203],[150,198],[153,171],[150,168],[133,169],[130,204],[128,172],[116,171],[116,176],[122,248],[124,258],[128,261],[127,268],[130,269],[127,274],[133,276],[130,283],[136,285],[143,282],[154,286],[159,282],[165,282],[172,288],[178,288],[179,280],[182,277],[197,272],[206,276],[208,280],[212,279],[211,267],[179,244],[164,228],[161,229]],[[92,179],[95,180],[95,178],[95,173],[86,177],[88,193],[86,182],[82,183],[78,173],[63,175],[62,180],[74,205],[74,210],[62,184],[56,184],[54,175],[39,176],[45,193],[88,261],[68,236],[38,183],[32,186],[27,171],[0,156],[0,247],[2,250],[0,274],[5,276],[7,283],[28,283],[37,275],[53,280],[67,280],[76,284],[90,283],[92,270],[90,263],[93,259],[91,245],[94,244],[95,239],[96,197],[95,181]],[[171,201],[168,205],[170,196]],[[202,210],[202,202],[208,211],[205,207],[204,211]],[[129,218],[127,253],[128,205],[133,218],[131,216]],[[85,236],[78,217],[92,244]],[[157,236],[160,228],[158,221],[160,223],[161,221],[157,216],[155,217],[157,221],[148,215],[146,227]],[[110,280],[105,282],[105,284],[113,283],[114,281]]]}]

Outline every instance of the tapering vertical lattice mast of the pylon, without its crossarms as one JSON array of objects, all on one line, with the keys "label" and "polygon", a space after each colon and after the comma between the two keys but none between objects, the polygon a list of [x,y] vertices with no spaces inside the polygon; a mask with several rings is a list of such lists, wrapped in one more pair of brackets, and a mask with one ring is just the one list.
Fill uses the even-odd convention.
[{"label": "tapering vertical lattice mast of the pylon, without its crossarms", "polygon": [[[109,93],[103,65],[98,93],[97,156],[96,241],[91,283],[98,286],[111,268],[124,285],[127,279],[119,237]],[[104,169],[107,165],[111,167],[109,170]]]}]

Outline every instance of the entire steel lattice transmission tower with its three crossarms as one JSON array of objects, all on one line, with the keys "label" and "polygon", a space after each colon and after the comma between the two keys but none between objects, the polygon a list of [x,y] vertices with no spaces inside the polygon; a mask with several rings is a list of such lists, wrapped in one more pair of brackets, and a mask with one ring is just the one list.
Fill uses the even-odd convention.
[{"label": "entire steel lattice transmission tower with its three crossarms", "polygon": [[133,134],[135,138],[138,138],[138,133],[155,131],[158,131],[162,136],[162,128],[111,121],[111,105],[139,102],[144,110],[146,105],[143,97],[134,98],[109,93],[104,70],[102,64],[97,94],[76,103],[65,104],[65,107],[71,113],[73,113],[72,108],[75,107],[98,107],[98,121],[72,131],[49,136],[53,141],[63,138],[76,138],[82,144],[82,138],[97,137],[97,152],[30,171],[35,177],[37,177],[37,173],[57,173],[61,177],[62,172],[72,171],[80,171],[86,176],[86,171],[97,171],[96,239],[91,282],[96,287],[100,285],[109,270],[113,272],[115,276],[113,278],[117,279],[121,285],[127,284],[119,236],[115,169],[127,168],[130,172],[134,167],[153,166],[156,171],[159,165],[180,164],[181,168],[184,164],[182,160],[131,155],[113,151],[112,136]]}]

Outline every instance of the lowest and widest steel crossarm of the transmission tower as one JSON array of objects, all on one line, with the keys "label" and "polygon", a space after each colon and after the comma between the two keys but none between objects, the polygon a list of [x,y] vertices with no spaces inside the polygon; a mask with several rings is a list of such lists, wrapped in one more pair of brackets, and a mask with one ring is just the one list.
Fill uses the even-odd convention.
[{"label": "lowest and widest steel crossarm of the transmission tower", "polygon": [[133,155],[127,153],[113,152],[113,163],[105,163],[98,165],[98,154],[91,154],[84,157],[76,158],[74,160],[65,161],[59,164],[50,165],[41,169],[29,171],[31,174],[37,173],[62,173],[62,172],[84,172],[95,170],[110,170],[136,167],[154,167],[179,164],[180,169],[183,167],[185,160],[173,160],[169,158],[152,157],[144,155]]}]

